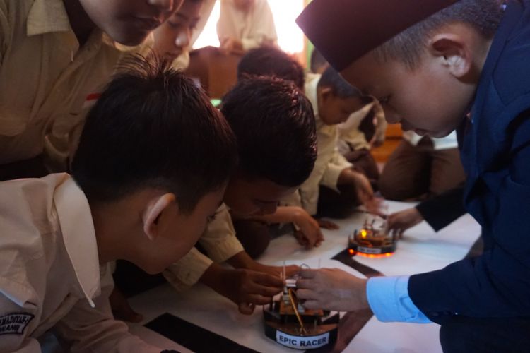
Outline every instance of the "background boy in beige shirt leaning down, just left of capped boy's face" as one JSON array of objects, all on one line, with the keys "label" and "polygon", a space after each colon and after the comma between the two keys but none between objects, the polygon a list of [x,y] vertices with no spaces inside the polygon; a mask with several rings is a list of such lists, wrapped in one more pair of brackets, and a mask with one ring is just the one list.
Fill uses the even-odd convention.
[{"label": "background boy in beige shirt leaning down, just left of capped boy's face", "polygon": [[318,157],[302,186],[302,207],[310,215],[344,217],[358,203],[375,204],[372,186],[337,150],[337,124],[363,107],[360,92],[338,76],[334,68],[308,76],[305,93],[312,103],[317,124]]}]

